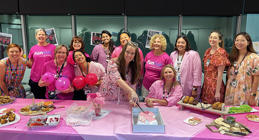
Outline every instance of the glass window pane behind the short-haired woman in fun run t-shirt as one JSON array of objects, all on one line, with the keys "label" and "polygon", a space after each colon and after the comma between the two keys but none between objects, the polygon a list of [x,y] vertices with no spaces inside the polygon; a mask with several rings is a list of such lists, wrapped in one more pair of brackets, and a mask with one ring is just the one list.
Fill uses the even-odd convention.
[{"label": "glass window pane behind the short-haired woman in fun run t-shirt", "polygon": [[[32,46],[38,43],[35,38],[38,28],[50,29],[47,31],[47,35],[52,38],[52,44],[56,46],[57,44],[64,44],[69,48],[72,39],[71,16],[27,16],[28,52],[30,52]],[[54,28],[55,35],[51,28]],[[51,42],[50,38],[46,40]]]}]

